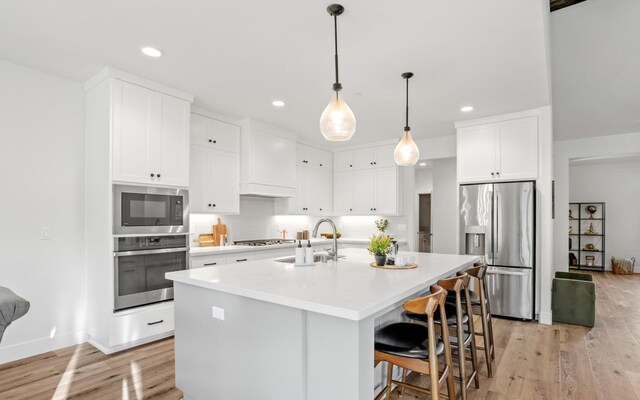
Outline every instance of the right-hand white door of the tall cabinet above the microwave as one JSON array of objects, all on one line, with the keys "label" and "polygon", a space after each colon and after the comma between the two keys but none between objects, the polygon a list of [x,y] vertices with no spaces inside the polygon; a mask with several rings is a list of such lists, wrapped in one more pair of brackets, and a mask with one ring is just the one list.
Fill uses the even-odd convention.
[{"label": "right-hand white door of the tall cabinet above the microwave", "polygon": [[158,183],[189,186],[189,102],[158,94],[160,104]]}]

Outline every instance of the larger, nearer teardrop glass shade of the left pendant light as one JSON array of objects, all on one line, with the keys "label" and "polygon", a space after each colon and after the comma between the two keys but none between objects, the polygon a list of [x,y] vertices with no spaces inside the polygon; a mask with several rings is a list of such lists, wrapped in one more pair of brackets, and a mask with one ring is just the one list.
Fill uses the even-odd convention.
[{"label": "larger, nearer teardrop glass shade of the left pendant light", "polygon": [[332,142],[344,142],[351,139],[355,131],[356,117],[340,92],[333,92],[329,104],[320,116],[322,136]]}]

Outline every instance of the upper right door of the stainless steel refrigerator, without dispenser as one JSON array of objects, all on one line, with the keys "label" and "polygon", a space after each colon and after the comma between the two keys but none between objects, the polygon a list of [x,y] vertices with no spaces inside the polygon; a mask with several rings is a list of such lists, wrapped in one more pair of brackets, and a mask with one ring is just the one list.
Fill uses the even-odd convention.
[{"label": "upper right door of the stainless steel refrigerator, without dispenser", "polygon": [[533,182],[494,185],[493,265],[533,268]]}]

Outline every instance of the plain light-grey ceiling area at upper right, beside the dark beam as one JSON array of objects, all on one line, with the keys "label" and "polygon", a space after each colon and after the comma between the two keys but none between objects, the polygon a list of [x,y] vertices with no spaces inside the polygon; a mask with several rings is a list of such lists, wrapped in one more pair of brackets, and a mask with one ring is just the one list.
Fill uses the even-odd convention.
[{"label": "plain light-grey ceiling area at upper right, beside the dark beam", "polygon": [[640,1],[551,14],[555,140],[640,132]]}]

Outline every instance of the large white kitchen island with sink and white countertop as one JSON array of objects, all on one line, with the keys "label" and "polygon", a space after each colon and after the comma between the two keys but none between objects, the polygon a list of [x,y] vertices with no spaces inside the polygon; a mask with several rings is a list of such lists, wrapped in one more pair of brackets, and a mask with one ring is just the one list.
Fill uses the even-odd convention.
[{"label": "large white kitchen island with sink and white countertop", "polygon": [[185,400],[373,399],[376,318],[478,258],[409,253],[372,268],[366,250],[295,267],[276,260],[168,273],[176,386]]}]

